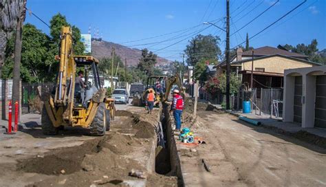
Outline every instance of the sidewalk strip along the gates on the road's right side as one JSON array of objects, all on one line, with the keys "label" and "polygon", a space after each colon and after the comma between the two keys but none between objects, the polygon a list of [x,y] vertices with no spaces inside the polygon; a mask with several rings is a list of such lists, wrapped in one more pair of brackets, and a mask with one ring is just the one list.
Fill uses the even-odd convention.
[{"label": "sidewalk strip along the gates on the road's right side", "polygon": [[[216,109],[221,109],[219,104],[211,104]],[[244,116],[252,120],[261,122],[262,126],[270,129],[275,129],[278,133],[286,135],[293,135],[299,140],[309,142],[310,144],[316,144],[318,146],[326,148],[326,129],[319,128],[302,128],[300,124],[295,122],[283,122],[281,119],[270,118],[270,115],[262,114],[256,115],[254,111],[252,113],[242,113],[242,111],[226,111],[232,115]]]}]

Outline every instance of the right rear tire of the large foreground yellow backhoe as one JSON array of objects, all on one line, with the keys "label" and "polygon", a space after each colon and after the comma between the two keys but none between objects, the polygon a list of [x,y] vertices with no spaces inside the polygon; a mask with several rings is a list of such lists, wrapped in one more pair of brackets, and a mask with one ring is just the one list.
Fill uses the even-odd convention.
[{"label": "right rear tire of the large foreground yellow backhoe", "polygon": [[105,124],[105,104],[100,103],[98,111],[96,111],[95,117],[91,125],[89,126],[91,135],[105,135],[106,124]]}]

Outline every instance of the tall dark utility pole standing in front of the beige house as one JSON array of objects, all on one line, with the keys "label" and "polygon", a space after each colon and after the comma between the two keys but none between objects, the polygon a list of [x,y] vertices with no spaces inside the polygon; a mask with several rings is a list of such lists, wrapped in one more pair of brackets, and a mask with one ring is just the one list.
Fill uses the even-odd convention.
[{"label": "tall dark utility pole standing in front of the beige house", "polygon": [[226,0],[226,109],[230,109],[230,0]]}]

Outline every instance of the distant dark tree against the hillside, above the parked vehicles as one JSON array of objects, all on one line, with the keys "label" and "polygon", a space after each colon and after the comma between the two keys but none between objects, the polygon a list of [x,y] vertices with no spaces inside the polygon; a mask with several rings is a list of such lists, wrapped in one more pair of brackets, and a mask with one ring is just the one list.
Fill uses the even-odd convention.
[{"label": "distant dark tree against the hillside, above the parked vehicles", "polygon": [[142,50],[142,56],[139,59],[138,69],[145,72],[147,76],[154,74],[154,66],[157,63],[157,55],[149,52],[146,48]]}]

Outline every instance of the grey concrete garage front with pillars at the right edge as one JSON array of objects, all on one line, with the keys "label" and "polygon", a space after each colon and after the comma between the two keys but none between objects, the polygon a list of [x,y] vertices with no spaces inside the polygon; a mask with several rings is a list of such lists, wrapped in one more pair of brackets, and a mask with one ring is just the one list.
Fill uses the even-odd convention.
[{"label": "grey concrete garage front with pillars at the right edge", "polygon": [[286,69],[283,121],[326,129],[326,66]]}]

